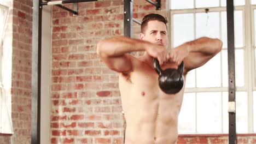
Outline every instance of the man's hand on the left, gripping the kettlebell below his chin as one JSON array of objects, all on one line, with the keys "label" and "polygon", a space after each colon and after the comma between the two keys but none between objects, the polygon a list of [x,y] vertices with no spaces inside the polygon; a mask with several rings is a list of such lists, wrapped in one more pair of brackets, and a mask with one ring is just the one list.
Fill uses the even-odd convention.
[{"label": "man's hand on the left, gripping the kettlebell below his chin", "polygon": [[170,54],[167,52],[166,47],[162,45],[152,44],[152,46],[147,47],[146,52],[148,55],[158,58],[160,65],[170,61]]}]

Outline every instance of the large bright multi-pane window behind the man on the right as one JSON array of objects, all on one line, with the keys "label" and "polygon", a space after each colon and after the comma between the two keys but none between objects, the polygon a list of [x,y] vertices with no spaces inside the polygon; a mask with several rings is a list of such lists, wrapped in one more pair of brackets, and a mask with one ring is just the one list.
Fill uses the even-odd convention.
[{"label": "large bright multi-pane window behind the man on the right", "polygon": [[[235,0],[234,4],[236,131],[255,133],[256,37],[253,39],[251,35],[256,32],[256,5],[253,5],[256,1]],[[218,55],[187,75],[179,134],[226,134],[229,122],[226,0],[170,0],[170,9],[171,47],[203,36],[223,41]]]}]

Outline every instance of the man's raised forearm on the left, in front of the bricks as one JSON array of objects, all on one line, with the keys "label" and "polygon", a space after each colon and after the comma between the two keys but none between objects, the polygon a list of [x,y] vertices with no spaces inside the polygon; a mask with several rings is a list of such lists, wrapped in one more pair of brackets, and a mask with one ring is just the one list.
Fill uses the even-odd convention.
[{"label": "man's raised forearm on the left, in front of the bricks", "polygon": [[116,57],[133,51],[144,51],[147,45],[149,45],[147,41],[117,36],[101,40],[97,44],[97,53],[101,56]]}]

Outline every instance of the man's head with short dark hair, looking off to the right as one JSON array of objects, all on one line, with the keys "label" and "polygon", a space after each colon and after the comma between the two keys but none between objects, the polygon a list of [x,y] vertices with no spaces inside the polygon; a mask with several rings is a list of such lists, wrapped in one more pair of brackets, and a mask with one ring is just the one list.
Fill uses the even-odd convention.
[{"label": "man's head with short dark hair, looking off to the right", "polygon": [[159,14],[148,14],[144,16],[141,23],[141,40],[151,43],[168,45],[167,20]]}]

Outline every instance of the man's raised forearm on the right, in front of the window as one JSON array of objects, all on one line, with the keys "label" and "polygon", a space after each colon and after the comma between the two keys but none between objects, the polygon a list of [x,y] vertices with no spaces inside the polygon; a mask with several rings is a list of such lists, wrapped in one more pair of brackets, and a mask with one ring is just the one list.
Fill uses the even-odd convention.
[{"label": "man's raised forearm on the right, in front of the window", "polygon": [[201,52],[205,55],[214,55],[222,49],[222,41],[202,37],[193,41],[189,41],[184,45],[187,46],[189,52]]}]

